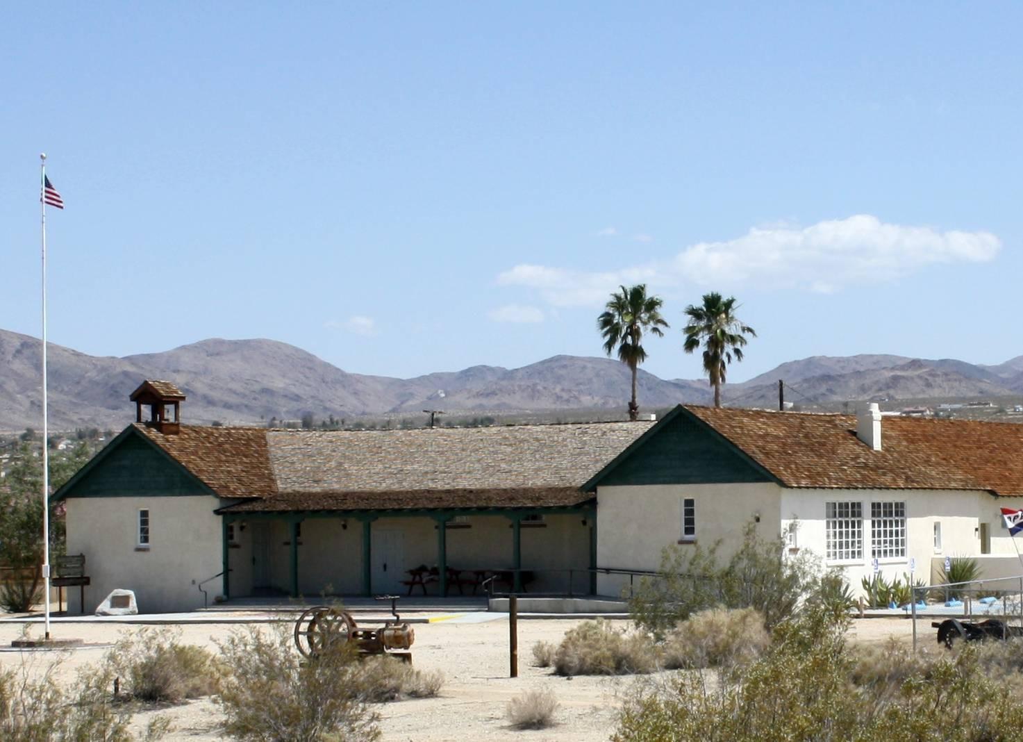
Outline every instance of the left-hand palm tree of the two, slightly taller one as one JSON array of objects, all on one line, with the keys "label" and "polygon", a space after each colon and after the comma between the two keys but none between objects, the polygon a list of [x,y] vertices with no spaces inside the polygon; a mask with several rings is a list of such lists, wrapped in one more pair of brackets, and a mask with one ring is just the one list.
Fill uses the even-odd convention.
[{"label": "left-hand palm tree of the two, slightly taller one", "polygon": [[668,326],[661,316],[663,303],[658,297],[647,296],[646,283],[636,283],[630,289],[623,286],[621,294],[615,292],[611,295],[606,310],[596,318],[596,326],[604,336],[604,350],[610,356],[617,345],[618,359],[632,372],[629,420],[636,420],[639,417],[639,404],[636,402],[636,368],[647,360],[647,351],[640,345],[642,334],[650,332],[663,338],[664,332],[661,328]]}]

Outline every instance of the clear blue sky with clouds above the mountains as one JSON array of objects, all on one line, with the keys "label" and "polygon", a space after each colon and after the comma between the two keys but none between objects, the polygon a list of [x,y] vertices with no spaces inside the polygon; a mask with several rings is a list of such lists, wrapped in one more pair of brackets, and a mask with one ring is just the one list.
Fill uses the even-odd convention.
[{"label": "clear blue sky with clouds above the mountains", "polygon": [[96,355],[271,338],[410,377],[646,367],[732,294],[741,381],[809,355],[1023,354],[1023,6],[10,4],[0,328]]}]

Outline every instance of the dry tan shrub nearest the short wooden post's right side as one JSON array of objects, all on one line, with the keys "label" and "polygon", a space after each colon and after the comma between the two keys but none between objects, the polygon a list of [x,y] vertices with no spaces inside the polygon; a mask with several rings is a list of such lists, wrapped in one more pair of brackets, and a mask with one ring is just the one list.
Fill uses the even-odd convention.
[{"label": "dry tan shrub nearest the short wooden post's right side", "polygon": [[554,671],[560,675],[653,672],[658,659],[657,647],[648,635],[628,634],[597,618],[566,631],[554,652]]}]

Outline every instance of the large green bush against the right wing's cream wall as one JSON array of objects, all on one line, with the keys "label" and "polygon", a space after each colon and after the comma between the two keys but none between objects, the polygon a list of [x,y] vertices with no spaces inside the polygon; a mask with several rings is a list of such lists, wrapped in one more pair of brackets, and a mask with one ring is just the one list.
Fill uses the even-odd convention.
[{"label": "large green bush against the right wing's cream wall", "polygon": [[724,566],[717,560],[720,542],[667,547],[656,577],[643,578],[629,600],[637,625],[658,639],[693,613],[715,606],[756,608],[768,628],[791,616],[818,582],[817,565],[808,553],[786,559],[782,538],[765,540],[748,523],[743,543]]}]

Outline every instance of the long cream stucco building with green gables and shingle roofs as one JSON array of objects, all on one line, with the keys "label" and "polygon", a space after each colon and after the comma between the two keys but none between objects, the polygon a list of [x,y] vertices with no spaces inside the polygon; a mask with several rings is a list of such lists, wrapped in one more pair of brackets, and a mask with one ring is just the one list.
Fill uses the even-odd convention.
[{"label": "long cream stucco building with green gables and shingle roofs", "polygon": [[1023,426],[882,420],[875,404],[858,418],[679,406],[658,423],[266,430],[183,425],[166,382],[132,399],[137,422],[55,496],[95,600],[129,587],[143,611],[201,606],[204,582],[226,598],[407,592],[419,565],[436,568],[435,593],[502,570],[506,588],[618,596],[628,578],[609,571],[657,569],[668,545],[721,541],[727,557],[750,522],[854,588],[875,560],[889,578],[915,565],[927,580],[949,555],[1021,571],[998,508],[1023,507]]}]

